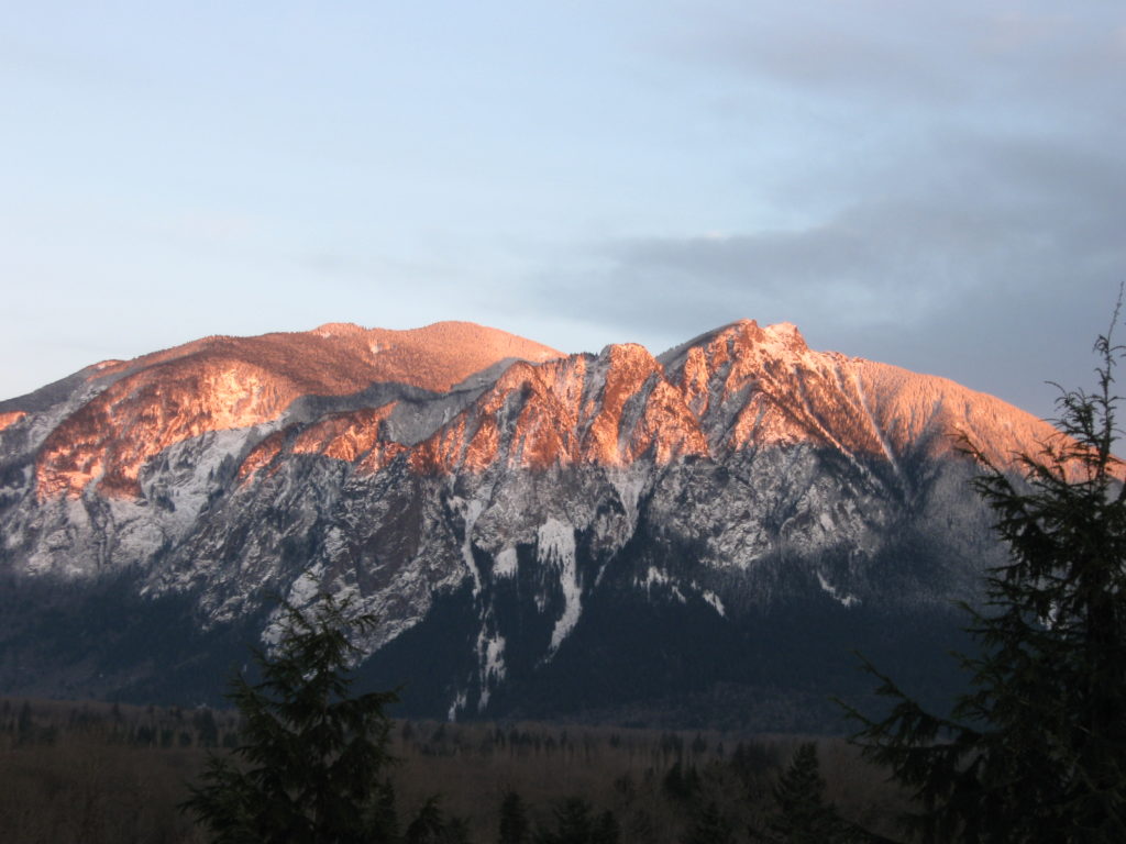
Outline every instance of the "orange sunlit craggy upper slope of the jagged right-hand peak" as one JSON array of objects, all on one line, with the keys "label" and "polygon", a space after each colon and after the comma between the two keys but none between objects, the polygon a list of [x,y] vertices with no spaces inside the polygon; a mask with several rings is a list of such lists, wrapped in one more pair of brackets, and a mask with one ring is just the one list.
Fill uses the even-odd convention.
[{"label": "orange sunlit craggy upper slope of the jagged right-hand peak", "polygon": [[[740,321],[654,358],[633,343],[509,367],[470,406],[417,445],[386,436],[390,407],[339,414],[297,437],[280,433],[242,477],[291,454],[318,452],[377,472],[406,452],[422,474],[659,465],[726,459],[761,447],[813,445],[860,469],[881,465],[910,492],[911,469],[948,455],[965,433],[1008,464],[1054,430],[954,381],[835,352],[811,351],[789,324]],[[861,469],[867,472],[867,469]]]}]

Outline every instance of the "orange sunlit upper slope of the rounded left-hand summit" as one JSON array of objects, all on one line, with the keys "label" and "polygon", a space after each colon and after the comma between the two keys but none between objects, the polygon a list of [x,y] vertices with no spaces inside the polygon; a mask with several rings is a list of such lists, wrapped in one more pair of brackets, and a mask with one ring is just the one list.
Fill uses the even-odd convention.
[{"label": "orange sunlit upper slope of the rounded left-hand summit", "polygon": [[141,466],[171,445],[208,431],[277,419],[303,395],[347,395],[394,381],[443,392],[506,358],[544,361],[560,352],[497,329],[441,322],[390,331],[347,323],[303,333],[211,336],[91,378],[118,377],[62,422],[36,465],[41,496],[134,494]]}]

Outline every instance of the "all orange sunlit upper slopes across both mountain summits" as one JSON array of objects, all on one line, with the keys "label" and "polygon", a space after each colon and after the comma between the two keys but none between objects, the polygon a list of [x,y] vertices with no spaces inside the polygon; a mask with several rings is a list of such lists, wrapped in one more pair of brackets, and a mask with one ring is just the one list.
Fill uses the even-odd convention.
[{"label": "all orange sunlit upper slopes across both mountain summits", "polygon": [[[632,343],[562,356],[472,323],[412,331],[329,324],[305,333],[206,338],[92,367],[91,381],[108,386],[46,437],[36,492],[41,499],[75,495],[96,483],[100,494],[136,496],[141,468],[168,447],[274,422],[301,396],[347,396],[376,383],[440,394],[507,359],[520,362],[483,384],[453,417],[439,415],[417,441],[388,433],[391,405],[287,417],[285,436],[261,440],[240,475],[294,454],[378,472],[408,452],[414,472],[432,474],[723,460],[813,443],[865,473],[882,466],[882,477],[900,485],[896,478],[905,484],[912,465],[953,451],[959,432],[1001,464],[1037,451],[1054,434],[1030,414],[945,378],[812,351],[788,323],[739,321],[660,358]],[[11,424],[20,419],[18,406],[5,421],[9,416]]]}]

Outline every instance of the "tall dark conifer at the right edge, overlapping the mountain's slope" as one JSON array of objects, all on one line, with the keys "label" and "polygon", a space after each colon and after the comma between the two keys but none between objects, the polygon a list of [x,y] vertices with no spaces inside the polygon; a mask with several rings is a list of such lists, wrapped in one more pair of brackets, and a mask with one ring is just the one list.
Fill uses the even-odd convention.
[{"label": "tall dark conifer at the right edge, overlapping the mountain's slope", "polygon": [[852,710],[866,756],[915,794],[927,842],[1126,841],[1126,487],[1111,452],[1123,349],[1108,333],[1096,350],[1099,388],[1062,394],[1061,434],[1019,458],[1022,481],[966,443],[1011,549],[985,609],[968,610],[972,690],[936,717],[872,668],[893,709]]}]

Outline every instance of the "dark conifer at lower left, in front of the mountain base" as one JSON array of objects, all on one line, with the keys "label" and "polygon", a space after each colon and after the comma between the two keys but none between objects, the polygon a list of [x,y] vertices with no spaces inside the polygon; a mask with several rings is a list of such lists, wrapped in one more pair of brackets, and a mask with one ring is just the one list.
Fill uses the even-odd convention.
[{"label": "dark conifer at lower left, in front of the mountain base", "polygon": [[[277,653],[256,654],[262,680],[235,677],[231,699],[242,713],[242,744],[209,760],[203,783],[184,806],[216,842],[345,844],[397,836],[386,781],[392,692],[352,697],[346,674],[358,649],[346,605],[322,596],[305,616],[285,604]],[[427,841],[427,838],[420,838]]]}]

